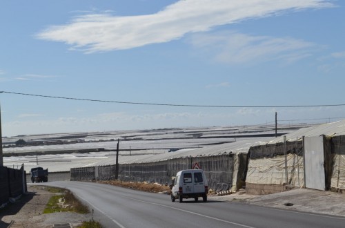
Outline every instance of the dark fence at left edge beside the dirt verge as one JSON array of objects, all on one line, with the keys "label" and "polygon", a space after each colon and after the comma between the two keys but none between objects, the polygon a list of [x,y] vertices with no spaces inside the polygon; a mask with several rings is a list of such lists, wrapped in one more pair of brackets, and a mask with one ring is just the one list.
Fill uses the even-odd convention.
[{"label": "dark fence at left edge beside the dirt verge", "polygon": [[21,169],[0,167],[0,207],[10,198],[17,198],[26,191],[26,175],[23,167]]}]

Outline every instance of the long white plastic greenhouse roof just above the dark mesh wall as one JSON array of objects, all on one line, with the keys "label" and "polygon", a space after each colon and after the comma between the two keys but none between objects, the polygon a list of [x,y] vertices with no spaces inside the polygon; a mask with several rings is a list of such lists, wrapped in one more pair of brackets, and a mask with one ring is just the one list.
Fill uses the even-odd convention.
[{"label": "long white plastic greenhouse roof just above the dark mesh wall", "polygon": [[[259,144],[267,140],[267,137],[262,138],[239,138],[237,142],[218,144],[214,146],[204,146],[197,149],[183,149],[175,152],[167,152],[152,150],[152,151],[133,151],[129,155],[128,151],[119,152],[119,163],[142,163],[142,162],[157,162],[160,160],[169,160],[172,158],[197,157],[219,155],[223,153],[248,153],[248,149],[253,144]],[[141,153],[141,155],[135,155]],[[143,154],[148,153],[148,154]],[[71,168],[78,167],[95,167],[102,165],[109,165],[116,163],[116,152],[91,152],[91,153],[72,153],[61,155],[39,155],[38,163],[36,164],[36,156],[20,156],[20,157],[5,157],[3,158],[6,167],[20,167],[25,164],[26,172],[29,172],[32,167],[48,168],[50,172],[70,171]]]}]

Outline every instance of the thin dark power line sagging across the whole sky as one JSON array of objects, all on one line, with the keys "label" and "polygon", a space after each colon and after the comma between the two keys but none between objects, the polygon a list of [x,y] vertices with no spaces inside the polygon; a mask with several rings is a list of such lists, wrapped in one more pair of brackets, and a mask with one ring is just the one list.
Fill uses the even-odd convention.
[{"label": "thin dark power line sagging across the whole sky", "polygon": [[145,103],[145,102],[119,102],[102,99],[84,99],[75,97],[59,97],[51,95],[37,95],[30,93],[14,93],[10,91],[0,91],[0,93],[8,93],[15,95],[33,96],[33,97],[46,97],[56,99],[72,99],[85,102],[104,102],[104,103],[117,103],[117,104],[139,104],[139,105],[153,105],[153,106],[183,106],[183,107],[206,107],[206,108],[310,108],[310,107],[329,107],[329,106],[345,106],[345,104],[315,104],[315,105],[282,105],[282,106],[227,106],[227,105],[199,105],[199,104],[161,104],[161,103]]}]

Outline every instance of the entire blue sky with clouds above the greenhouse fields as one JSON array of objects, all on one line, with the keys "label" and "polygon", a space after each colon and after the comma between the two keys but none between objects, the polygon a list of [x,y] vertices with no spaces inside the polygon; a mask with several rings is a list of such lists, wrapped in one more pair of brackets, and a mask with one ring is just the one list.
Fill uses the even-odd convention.
[{"label": "entire blue sky with clouds above the greenhouse fields", "polygon": [[326,0],[1,1],[2,133],[266,124],[275,112],[282,124],[343,119],[345,106],[317,105],[345,104],[344,7]]}]

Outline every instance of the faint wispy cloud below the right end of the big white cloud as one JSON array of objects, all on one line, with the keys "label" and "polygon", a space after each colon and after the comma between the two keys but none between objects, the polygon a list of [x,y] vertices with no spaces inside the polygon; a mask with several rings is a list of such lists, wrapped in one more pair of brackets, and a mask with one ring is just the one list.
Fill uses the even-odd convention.
[{"label": "faint wispy cloud below the right end of the big white cloud", "polygon": [[215,60],[228,64],[279,59],[286,64],[311,55],[318,47],[289,37],[250,36],[238,32],[197,34],[189,39],[198,51],[213,52]]}]

